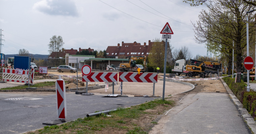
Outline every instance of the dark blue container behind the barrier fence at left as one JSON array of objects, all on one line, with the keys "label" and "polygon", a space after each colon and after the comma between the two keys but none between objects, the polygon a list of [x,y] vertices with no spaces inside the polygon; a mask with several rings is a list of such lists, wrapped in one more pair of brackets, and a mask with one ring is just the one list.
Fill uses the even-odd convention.
[{"label": "dark blue container behind the barrier fence at left", "polygon": [[30,69],[30,58],[27,56],[14,56],[14,69]]}]

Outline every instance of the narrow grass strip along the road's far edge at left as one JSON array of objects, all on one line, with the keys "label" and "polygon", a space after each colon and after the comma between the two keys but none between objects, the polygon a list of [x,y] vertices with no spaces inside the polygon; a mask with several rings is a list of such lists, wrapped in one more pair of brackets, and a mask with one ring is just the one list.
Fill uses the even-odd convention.
[{"label": "narrow grass strip along the road's far edge at left", "polygon": [[[52,85],[55,85],[55,81],[40,82],[40,83],[36,83],[35,85],[30,85],[29,87],[44,87],[44,86],[52,86]],[[0,90],[18,90],[18,89],[26,89],[26,88],[28,88],[28,85],[1,88]]]}]

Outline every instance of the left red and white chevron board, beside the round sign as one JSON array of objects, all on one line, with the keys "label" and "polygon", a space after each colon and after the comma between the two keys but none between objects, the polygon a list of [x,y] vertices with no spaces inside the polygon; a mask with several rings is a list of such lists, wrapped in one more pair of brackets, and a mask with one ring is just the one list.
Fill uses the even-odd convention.
[{"label": "left red and white chevron board, beside the round sign", "polygon": [[83,75],[83,82],[117,82],[117,73],[92,72]]}]

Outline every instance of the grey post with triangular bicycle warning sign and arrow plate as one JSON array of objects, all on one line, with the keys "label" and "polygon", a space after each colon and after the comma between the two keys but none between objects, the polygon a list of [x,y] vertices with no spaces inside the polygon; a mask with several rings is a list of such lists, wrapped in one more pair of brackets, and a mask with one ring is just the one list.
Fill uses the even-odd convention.
[{"label": "grey post with triangular bicycle warning sign and arrow plate", "polygon": [[[169,25],[169,23],[167,22],[164,25],[164,28],[162,29],[162,31],[160,32],[160,34],[171,34],[173,35],[173,32],[171,30],[171,27]],[[168,38],[167,38],[168,37]],[[166,56],[167,56],[167,42],[168,39],[170,39],[171,36],[163,36],[163,39],[165,39],[165,51],[164,51],[164,81],[163,81],[163,98],[162,100],[164,100],[164,92],[165,92],[165,74],[166,74]]]}]

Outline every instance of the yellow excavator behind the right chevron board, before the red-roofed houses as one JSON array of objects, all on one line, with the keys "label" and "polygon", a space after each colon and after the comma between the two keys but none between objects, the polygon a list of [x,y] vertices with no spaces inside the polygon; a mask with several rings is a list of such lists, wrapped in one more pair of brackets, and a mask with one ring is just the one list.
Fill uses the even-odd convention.
[{"label": "yellow excavator behind the right chevron board, before the red-roofed houses", "polygon": [[[144,73],[146,70],[146,56],[143,57],[130,57],[129,58],[129,63],[121,63],[120,64],[120,71],[121,72],[137,72],[137,69],[140,68],[140,72]],[[144,60],[144,67],[141,68],[141,66],[136,65],[136,61],[135,60],[139,60],[139,59],[143,59]]]}]

